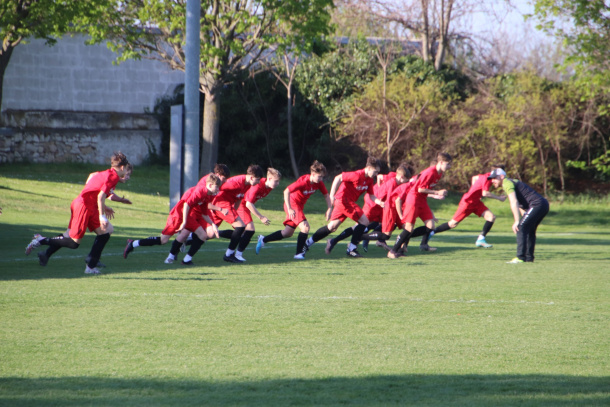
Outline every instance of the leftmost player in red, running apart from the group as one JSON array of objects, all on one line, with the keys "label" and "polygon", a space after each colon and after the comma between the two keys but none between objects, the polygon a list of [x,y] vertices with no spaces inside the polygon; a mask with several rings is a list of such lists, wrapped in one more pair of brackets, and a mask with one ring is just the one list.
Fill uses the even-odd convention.
[{"label": "leftmost player in red, running apart from the group", "polygon": [[114,153],[110,162],[111,168],[94,174],[85,184],[80,195],[72,201],[68,236],[47,238],[36,234],[25,249],[26,255],[40,245],[49,246],[45,252],[38,253],[40,265],[46,266],[49,258],[62,247],[78,248],[85,232],[89,229],[97,236],[91,253],[89,253],[90,259],[85,268],[85,274],[100,274],[100,270],[96,266],[110,239],[110,234],[114,231],[108,220],[114,216],[114,210],[106,206],[106,198],[114,194],[114,188],[121,178],[125,177],[129,166],[127,157],[121,152]]}]

